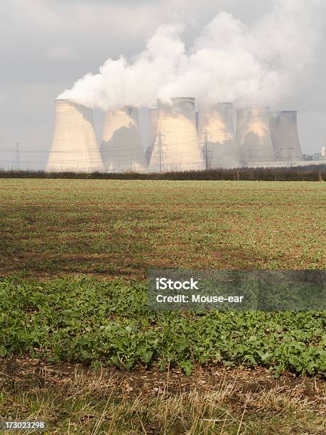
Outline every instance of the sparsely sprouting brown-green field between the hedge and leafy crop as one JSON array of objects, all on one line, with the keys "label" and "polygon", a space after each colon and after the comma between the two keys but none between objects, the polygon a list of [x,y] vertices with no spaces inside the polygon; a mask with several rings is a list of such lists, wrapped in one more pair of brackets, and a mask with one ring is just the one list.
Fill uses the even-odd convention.
[{"label": "sparsely sprouting brown-green field between the hedge and leafy crop", "polygon": [[0,180],[0,273],[325,267],[325,183]]}]

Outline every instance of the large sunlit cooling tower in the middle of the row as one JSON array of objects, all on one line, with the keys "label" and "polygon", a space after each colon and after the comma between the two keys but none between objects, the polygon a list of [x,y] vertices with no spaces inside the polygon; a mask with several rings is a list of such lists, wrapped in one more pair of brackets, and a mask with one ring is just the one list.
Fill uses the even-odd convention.
[{"label": "large sunlit cooling tower in the middle of the row", "polygon": [[205,168],[196,129],[195,98],[158,100],[156,139],[149,172],[202,171]]}]

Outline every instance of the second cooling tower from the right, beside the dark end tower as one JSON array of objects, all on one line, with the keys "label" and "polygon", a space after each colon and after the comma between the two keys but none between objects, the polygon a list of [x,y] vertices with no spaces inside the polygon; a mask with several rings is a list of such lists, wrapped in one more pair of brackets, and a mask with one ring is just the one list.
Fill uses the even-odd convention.
[{"label": "second cooling tower from the right, beside the dark end tower", "polygon": [[245,166],[276,160],[269,131],[268,107],[237,110],[237,142]]}]

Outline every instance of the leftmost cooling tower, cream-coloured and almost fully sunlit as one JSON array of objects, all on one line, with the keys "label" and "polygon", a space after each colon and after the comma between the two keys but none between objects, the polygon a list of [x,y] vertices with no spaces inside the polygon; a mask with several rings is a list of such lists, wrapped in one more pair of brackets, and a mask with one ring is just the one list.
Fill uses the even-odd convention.
[{"label": "leftmost cooling tower, cream-coloured and almost fully sunlit", "polygon": [[55,100],[55,132],[45,171],[103,171],[92,109]]}]

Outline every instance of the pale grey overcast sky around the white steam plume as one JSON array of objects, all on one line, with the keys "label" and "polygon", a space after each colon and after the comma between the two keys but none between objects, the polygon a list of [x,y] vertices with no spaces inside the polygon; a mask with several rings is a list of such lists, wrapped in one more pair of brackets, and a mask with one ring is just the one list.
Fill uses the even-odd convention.
[{"label": "pale grey overcast sky around the white steam plume", "polygon": [[[21,166],[44,167],[53,135],[55,97],[85,73],[97,73],[108,58],[122,54],[132,59],[161,24],[185,23],[183,41],[191,46],[198,29],[221,11],[252,26],[272,8],[273,0],[1,2],[0,166],[13,162],[14,144],[19,141]],[[320,20],[325,20],[326,28],[326,17]],[[326,138],[325,33],[318,37],[313,67],[305,80],[300,79],[305,83],[302,87],[299,83],[297,94],[283,102],[284,109],[299,110],[305,153],[320,151]],[[98,136],[101,122],[96,114]]]}]

